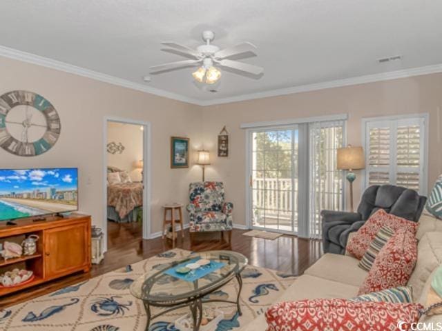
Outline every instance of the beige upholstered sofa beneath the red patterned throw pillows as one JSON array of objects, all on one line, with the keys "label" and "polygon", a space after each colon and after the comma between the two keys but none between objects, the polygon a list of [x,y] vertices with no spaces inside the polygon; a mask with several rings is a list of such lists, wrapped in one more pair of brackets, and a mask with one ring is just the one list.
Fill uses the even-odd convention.
[{"label": "beige upholstered sofa beneath the red patterned throw pillows", "polygon": [[[415,302],[425,305],[425,298],[430,288],[432,272],[442,263],[442,221],[424,212],[419,219],[416,238],[418,261],[407,285],[412,286]],[[314,265],[298,277],[282,293],[280,301],[294,301],[314,298],[356,297],[367,272],[358,267],[358,259],[349,255],[324,254]],[[442,315],[422,317],[421,321],[442,322]],[[259,315],[241,330],[266,330],[264,314]]]}]

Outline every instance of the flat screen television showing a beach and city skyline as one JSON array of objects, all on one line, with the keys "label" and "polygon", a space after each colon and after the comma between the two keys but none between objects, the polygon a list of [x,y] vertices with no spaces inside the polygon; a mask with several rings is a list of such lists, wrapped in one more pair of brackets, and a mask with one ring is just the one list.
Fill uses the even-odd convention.
[{"label": "flat screen television showing a beach and city skyline", "polygon": [[0,169],[0,221],[75,210],[77,168]]}]

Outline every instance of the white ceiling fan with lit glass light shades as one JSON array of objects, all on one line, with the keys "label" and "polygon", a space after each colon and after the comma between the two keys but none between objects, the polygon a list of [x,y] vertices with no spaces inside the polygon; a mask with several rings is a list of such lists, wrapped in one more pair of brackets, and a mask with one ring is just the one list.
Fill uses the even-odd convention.
[{"label": "white ceiling fan with lit glass light shades", "polygon": [[230,57],[239,54],[242,54],[242,58],[256,56],[255,52],[253,52],[256,50],[256,46],[252,43],[244,42],[220,50],[218,46],[211,44],[211,41],[213,41],[214,38],[215,33],[213,31],[203,31],[202,40],[206,43],[198,46],[196,50],[187,46],[182,46],[178,43],[162,42],[162,45],[169,47],[167,49],[162,49],[163,51],[188,57],[189,60],[175,61],[161,64],[160,66],[153,66],[150,68],[151,74],[159,74],[161,72],[186,68],[189,66],[200,66],[198,70],[192,73],[192,76],[196,81],[208,84],[215,83],[221,77],[221,72],[216,67],[230,68],[237,74],[252,75],[258,78],[262,75],[264,69],[261,67],[229,59]]}]

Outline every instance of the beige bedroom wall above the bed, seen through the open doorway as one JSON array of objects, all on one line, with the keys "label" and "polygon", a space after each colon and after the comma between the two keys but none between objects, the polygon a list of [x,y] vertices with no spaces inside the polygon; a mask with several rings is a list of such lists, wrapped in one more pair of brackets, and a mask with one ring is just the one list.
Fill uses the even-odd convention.
[{"label": "beige bedroom wall above the bed, seen through the open doorway", "polygon": [[108,122],[108,143],[122,143],[124,150],[107,153],[108,165],[126,170],[132,181],[142,181],[141,169],[135,169],[136,161],[143,159],[143,132],[135,124]]}]

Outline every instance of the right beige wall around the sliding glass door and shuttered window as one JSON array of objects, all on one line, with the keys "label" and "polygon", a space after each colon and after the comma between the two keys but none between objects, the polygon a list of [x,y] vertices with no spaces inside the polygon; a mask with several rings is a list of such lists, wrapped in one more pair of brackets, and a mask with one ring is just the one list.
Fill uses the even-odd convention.
[{"label": "right beige wall around the sliding glass door and shuttered window", "polygon": [[[235,203],[233,221],[245,224],[245,134],[240,129],[241,123],[347,113],[347,142],[360,146],[363,117],[427,112],[430,114],[430,190],[436,177],[442,173],[442,144],[438,134],[442,112],[439,110],[438,115],[438,108],[442,108],[442,74],[210,106],[203,112],[204,148],[211,150],[212,157],[206,177],[224,181],[227,199]],[[230,156],[218,158],[216,139],[224,125],[231,134]],[[355,205],[361,195],[361,172],[357,174]]]}]

